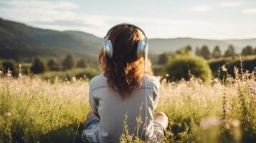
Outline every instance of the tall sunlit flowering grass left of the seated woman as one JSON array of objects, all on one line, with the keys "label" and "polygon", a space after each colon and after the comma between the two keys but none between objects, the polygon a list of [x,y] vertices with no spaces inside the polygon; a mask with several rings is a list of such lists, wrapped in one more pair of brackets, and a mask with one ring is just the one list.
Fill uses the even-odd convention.
[{"label": "tall sunlit flowering grass left of the seated woman", "polygon": [[77,142],[88,82],[0,79],[0,142]]}]

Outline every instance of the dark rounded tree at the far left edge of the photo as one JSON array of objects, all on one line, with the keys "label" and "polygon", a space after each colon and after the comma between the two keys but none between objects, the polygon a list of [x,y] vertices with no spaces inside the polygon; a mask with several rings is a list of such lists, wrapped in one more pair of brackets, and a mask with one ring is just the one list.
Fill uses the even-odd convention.
[{"label": "dark rounded tree at the far left edge of the photo", "polygon": [[1,63],[2,69],[4,74],[7,74],[8,70],[11,71],[11,75],[13,77],[16,77],[18,75],[18,69],[17,69],[17,64],[13,60],[7,60]]}]

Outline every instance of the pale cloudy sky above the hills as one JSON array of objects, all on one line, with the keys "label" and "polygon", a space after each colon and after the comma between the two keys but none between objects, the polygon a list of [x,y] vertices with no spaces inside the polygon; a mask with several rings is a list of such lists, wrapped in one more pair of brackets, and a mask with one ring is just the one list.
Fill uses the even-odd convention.
[{"label": "pale cloudy sky above the hills", "polygon": [[149,38],[256,38],[256,0],[0,0],[0,17],[100,37],[127,22]]}]

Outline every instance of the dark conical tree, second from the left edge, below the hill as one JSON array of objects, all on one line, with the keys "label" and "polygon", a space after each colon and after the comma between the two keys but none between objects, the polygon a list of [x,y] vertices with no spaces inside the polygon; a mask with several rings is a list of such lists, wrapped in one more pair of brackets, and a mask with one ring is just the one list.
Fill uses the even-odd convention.
[{"label": "dark conical tree, second from the left edge, below the hill", "polygon": [[45,61],[42,58],[37,57],[36,59],[34,59],[34,62],[31,66],[31,71],[34,74],[41,74],[47,70],[48,70],[47,64],[45,63]]}]

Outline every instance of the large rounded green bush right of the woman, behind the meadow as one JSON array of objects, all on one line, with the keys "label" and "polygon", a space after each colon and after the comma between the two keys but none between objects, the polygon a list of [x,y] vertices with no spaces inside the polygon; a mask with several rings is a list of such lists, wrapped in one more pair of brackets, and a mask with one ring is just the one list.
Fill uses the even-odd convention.
[{"label": "large rounded green bush right of the woman, behind the meadow", "polygon": [[212,76],[212,71],[207,61],[202,57],[187,55],[176,55],[166,66],[166,72],[169,74],[169,81],[176,81],[182,78],[189,80],[189,74],[201,78],[206,82]]}]

